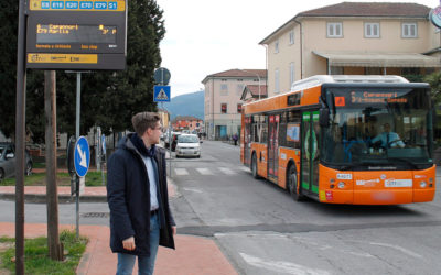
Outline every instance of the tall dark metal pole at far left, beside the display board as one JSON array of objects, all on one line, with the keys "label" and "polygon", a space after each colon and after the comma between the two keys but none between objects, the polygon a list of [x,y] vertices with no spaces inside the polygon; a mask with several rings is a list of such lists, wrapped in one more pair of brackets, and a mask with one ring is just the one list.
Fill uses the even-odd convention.
[{"label": "tall dark metal pole at far left, beside the display board", "polygon": [[15,106],[15,274],[24,274],[24,134],[26,109],[26,18],[25,1],[19,2],[19,33],[17,43],[17,106]]}]

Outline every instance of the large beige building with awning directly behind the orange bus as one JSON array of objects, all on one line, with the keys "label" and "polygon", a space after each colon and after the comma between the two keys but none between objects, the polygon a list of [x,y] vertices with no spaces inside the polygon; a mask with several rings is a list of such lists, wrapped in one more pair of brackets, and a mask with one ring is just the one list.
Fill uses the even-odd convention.
[{"label": "large beige building with awning directly behind the orange bus", "polygon": [[313,75],[424,75],[441,66],[440,32],[417,3],[342,2],[304,11],[260,42],[268,95]]}]

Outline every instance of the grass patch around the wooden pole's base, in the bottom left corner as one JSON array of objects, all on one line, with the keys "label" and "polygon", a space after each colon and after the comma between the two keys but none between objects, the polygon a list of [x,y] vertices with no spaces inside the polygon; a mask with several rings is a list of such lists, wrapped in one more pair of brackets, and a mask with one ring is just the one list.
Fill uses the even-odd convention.
[{"label": "grass patch around the wooden pole's base, in the bottom left corner", "polygon": [[[75,274],[79,260],[86,250],[88,239],[80,237],[76,239],[75,232],[62,231],[60,241],[64,244],[64,261],[53,261],[49,257],[47,238],[26,239],[24,241],[24,270],[26,274]],[[12,243],[14,239],[0,238],[0,242]],[[1,267],[11,271],[15,270],[13,261],[15,248],[0,252]]]}]

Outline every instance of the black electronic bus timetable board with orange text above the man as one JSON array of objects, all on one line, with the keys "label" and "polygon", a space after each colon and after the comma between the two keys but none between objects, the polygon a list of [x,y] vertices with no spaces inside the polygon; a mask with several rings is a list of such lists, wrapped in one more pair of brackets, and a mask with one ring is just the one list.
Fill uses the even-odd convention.
[{"label": "black electronic bus timetable board with orange text above the man", "polygon": [[125,69],[126,4],[126,0],[31,0],[26,67]]}]

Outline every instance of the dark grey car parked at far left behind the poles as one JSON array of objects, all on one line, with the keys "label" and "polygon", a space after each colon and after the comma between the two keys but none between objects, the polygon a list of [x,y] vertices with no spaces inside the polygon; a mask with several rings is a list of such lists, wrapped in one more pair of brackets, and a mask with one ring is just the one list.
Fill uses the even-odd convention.
[{"label": "dark grey car parked at far left behind the poles", "polygon": [[[15,176],[15,146],[10,142],[0,142],[0,182],[3,178]],[[26,176],[32,174],[32,157],[29,151],[25,151],[25,168]]]}]

